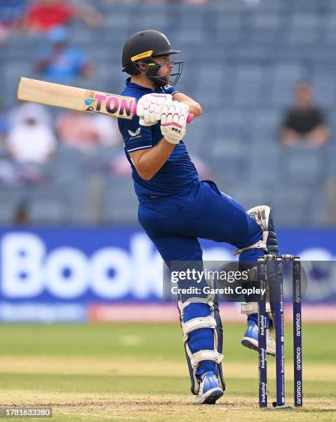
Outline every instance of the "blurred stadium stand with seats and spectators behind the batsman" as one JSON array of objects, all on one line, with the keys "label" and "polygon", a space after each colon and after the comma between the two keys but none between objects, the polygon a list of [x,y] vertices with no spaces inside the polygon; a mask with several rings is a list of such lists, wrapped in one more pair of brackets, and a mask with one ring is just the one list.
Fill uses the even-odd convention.
[{"label": "blurred stadium stand with seats and spectators behind the batsman", "polygon": [[15,94],[21,76],[119,93],[124,41],[152,28],[204,109],[185,139],[201,178],[282,227],[335,226],[335,26],[333,0],[0,0],[1,225],[136,223],[115,119]]}]

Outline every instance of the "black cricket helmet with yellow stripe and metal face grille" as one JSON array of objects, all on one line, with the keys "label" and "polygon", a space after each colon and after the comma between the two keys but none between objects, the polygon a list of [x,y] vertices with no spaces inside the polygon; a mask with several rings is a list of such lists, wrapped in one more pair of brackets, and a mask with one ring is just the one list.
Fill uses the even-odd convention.
[{"label": "black cricket helmet with yellow stripe and metal face grille", "polygon": [[[144,74],[144,76],[152,79],[157,86],[164,86],[167,83],[175,85],[181,76],[184,61],[157,63],[155,57],[178,54],[179,52],[172,50],[170,42],[162,32],[156,30],[136,32],[123,46],[123,72],[130,75]],[[140,68],[139,60],[147,65],[146,70]],[[170,75],[170,81],[163,77],[157,77],[160,66],[168,63],[178,66],[177,72]]]}]

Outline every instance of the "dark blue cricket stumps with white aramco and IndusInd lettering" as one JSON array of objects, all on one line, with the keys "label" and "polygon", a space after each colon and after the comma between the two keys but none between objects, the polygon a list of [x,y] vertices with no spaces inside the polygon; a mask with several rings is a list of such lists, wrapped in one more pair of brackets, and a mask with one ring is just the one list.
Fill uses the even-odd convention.
[{"label": "dark blue cricket stumps with white aramco and IndusInd lettering", "polygon": [[[275,256],[266,254],[259,257],[257,276],[261,291],[268,283],[270,303],[275,320],[276,345],[276,386],[277,400],[273,408],[285,409],[285,359],[284,359],[284,277],[283,261],[293,262],[293,347],[294,347],[294,405],[302,406],[302,294],[301,262],[299,257],[285,254]],[[268,266],[273,270],[274,285],[267,281]],[[259,300],[258,314],[258,351],[259,351],[259,407],[267,408],[267,353],[266,353],[266,294]]]}]

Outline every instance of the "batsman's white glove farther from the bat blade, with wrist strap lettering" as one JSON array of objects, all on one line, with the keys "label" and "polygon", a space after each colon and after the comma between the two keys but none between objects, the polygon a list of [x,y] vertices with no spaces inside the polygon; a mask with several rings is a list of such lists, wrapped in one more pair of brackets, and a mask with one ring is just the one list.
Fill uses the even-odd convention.
[{"label": "batsman's white glove farther from the bat blade, with wrist strap lettering", "polygon": [[161,116],[161,133],[170,143],[179,143],[186,134],[189,106],[172,101],[164,106]]}]

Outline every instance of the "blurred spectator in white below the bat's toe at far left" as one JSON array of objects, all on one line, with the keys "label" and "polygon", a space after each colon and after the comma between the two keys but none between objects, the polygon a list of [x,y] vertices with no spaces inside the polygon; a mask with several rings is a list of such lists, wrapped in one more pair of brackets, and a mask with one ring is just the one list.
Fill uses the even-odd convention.
[{"label": "blurred spectator in white below the bat's toe at far left", "polygon": [[6,148],[17,163],[46,163],[55,152],[56,138],[43,116],[43,106],[25,103],[19,108],[20,118],[14,123]]}]

